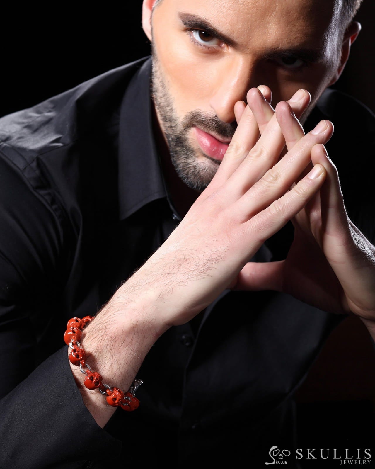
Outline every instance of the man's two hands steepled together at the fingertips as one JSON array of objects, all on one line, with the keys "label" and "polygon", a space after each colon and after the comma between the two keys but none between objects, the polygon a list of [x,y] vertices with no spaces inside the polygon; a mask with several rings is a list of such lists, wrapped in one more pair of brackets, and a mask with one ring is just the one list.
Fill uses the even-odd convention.
[{"label": "man's two hands steepled together at the fingertips", "polygon": [[[187,322],[229,287],[282,291],[375,327],[375,249],[345,212],[324,147],[333,125],[321,121],[304,135],[298,119],[309,93],[274,111],[270,90],[260,89],[248,92],[247,106],[236,103],[238,128],[217,173],[135,277],[159,292],[168,325]],[[286,259],[248,262],[289,220]]]}]

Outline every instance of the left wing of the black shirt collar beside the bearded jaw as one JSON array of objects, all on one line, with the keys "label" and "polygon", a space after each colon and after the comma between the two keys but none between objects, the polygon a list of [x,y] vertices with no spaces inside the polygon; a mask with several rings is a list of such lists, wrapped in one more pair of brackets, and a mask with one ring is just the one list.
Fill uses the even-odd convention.
[{"label": "left wing of the black shirt collar beside the bearded jaw", "polygon": [[120,219],[153,200],[166,197],[152,129],[151,59],[139,67],[125,91],[120,109]]}]

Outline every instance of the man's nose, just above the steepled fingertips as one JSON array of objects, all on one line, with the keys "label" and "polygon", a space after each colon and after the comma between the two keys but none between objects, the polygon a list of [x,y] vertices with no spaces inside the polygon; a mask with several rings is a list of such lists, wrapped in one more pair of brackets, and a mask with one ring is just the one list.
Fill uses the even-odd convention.
[{"label": "man's nose, just above the steepled fingertips", "polygon": [[254,83],[255,60],[249,57],[239,57],[231,61],[223,61],[217,75],[217,84],[211,95],[210,106],[218,118],[227,123],[235,120],[234,105],[244,100]]}]

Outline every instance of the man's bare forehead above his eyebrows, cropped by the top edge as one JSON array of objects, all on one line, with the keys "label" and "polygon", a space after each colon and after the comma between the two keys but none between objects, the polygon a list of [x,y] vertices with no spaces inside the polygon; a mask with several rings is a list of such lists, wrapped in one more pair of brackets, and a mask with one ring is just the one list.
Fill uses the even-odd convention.
[{"label": "man's bare forehead above his eyebrows, cropped by the top edge", "polygon": [[[322,46],[342,0],[164,0],[179,13],[206,20],[241,46]],[[259,44],[257,42],[259,41]],[[293,43],[293,44],[292,44]]]}]

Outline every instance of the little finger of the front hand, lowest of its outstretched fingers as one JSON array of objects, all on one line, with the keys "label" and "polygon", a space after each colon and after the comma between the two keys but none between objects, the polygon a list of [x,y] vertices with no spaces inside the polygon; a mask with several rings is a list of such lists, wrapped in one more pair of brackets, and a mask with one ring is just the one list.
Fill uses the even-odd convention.
[{"label": "little finger of the front hand, lowest of its outstretched fingers", "polygon": [[255,237],[254,250],[273,234],[277,233],[308,203],[311,197],[322,187],[326,171],[317,164],[296,186],[270,204],[266,209],[241,224],[240,234],[244,239]]}]

